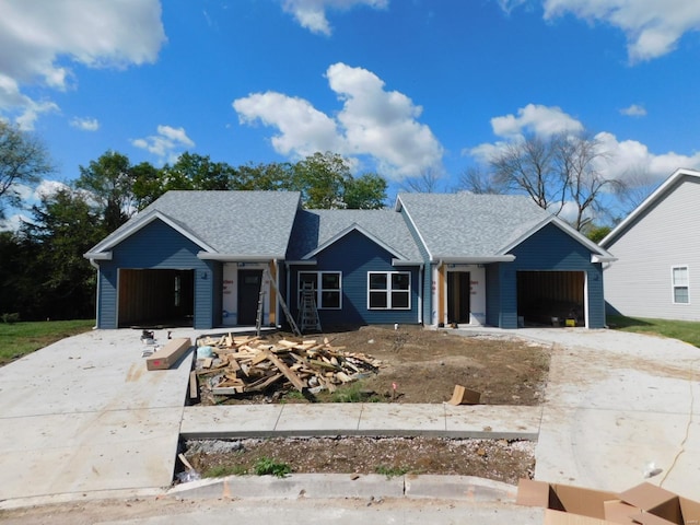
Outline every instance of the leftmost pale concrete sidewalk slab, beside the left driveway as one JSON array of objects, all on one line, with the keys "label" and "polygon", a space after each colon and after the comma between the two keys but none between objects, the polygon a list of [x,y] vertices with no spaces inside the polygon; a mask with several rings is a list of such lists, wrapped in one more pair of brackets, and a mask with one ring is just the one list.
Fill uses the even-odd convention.
[{"label": "leftmost pale concrete sidewalk slab, beside the left driveway", "polygon": [[180,434],[185,439],[265,436],[275,432],[283,405],[186,407]]}]

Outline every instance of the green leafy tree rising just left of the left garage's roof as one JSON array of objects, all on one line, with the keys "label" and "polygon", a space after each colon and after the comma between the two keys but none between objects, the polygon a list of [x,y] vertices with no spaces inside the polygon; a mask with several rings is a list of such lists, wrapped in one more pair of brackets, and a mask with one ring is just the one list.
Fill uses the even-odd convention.
[{"label": "green leafy tree rising just left of the left garage's roof", "polygon": [[90,192],[101,222],[112,232],[137,211],[133,183],[129,158],[109,150],[96,161],[90,161],[88,167],[80,166],[75,187]]}]

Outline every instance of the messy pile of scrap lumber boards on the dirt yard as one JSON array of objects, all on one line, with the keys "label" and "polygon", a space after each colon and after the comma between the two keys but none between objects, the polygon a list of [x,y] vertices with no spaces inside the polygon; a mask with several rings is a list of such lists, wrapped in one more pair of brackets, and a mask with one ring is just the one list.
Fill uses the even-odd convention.
[{"label": "messy pile of scrap lumber boards on the dirt yard", "polygon": [[[202,392],[235,396],[295,388],[316,394],[375,374],[382,362],[364,353],[345,351],[323,341],[279,339],[231,334],[197,340],[197,368],[190,377],[190,396]],[[200,358],[200,355],[202,355]]]}]

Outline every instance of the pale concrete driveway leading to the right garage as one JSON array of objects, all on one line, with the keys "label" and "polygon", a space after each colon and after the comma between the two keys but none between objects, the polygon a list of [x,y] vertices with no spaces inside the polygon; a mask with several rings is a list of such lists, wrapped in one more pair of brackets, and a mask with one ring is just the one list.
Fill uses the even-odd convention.
[{"label": "pale concrete driveway leading to the right garage", "polygon": [[612,330],[517,335],[555,345],[537,479],[612,491],[649,481],[700,499],[699,348]]}]

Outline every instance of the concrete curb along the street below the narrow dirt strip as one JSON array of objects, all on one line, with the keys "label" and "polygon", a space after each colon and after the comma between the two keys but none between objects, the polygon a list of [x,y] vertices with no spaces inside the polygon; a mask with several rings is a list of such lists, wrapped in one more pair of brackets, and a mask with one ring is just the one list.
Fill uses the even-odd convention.
[{"label": "concrete curb along the street below the narrow dirt strip", "polygon": [[271,476],[228,476],[182,483],[167,491],[182,499],[332,499],[411,498],[466,500],[474,502],[515,501],[517,488],[471,476],[397,476],[350,474],[292,474]]}]

